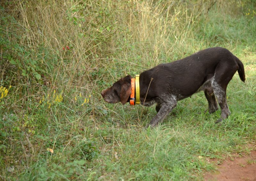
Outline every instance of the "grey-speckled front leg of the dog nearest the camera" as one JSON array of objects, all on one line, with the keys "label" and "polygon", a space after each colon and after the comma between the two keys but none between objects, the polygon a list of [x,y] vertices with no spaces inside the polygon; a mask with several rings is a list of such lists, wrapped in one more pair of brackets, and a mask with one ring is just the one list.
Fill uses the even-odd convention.
[{"label": "grey-speckled front leg of the dog nearest the camera", "polygon": [[156,116],[150,121],[150,125],[154,127],[158,123],[162,122],[176,105],[176,99],[172,99],[171,101],[162,103],[162,107],[157,112]]}]

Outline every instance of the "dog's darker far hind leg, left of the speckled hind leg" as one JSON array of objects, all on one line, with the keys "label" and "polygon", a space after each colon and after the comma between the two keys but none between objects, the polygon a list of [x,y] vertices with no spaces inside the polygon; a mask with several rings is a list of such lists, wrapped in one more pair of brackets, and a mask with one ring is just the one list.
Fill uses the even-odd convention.
[{"label": "dog's darker far hind leg, left of the speckled hind leg", "polygon": [[219,109],[218,103],[216,101],[215,95],[213,93],[213,88],[208,87],[204,89],[204,95],[208,101],[208,112],[211,114]]}]

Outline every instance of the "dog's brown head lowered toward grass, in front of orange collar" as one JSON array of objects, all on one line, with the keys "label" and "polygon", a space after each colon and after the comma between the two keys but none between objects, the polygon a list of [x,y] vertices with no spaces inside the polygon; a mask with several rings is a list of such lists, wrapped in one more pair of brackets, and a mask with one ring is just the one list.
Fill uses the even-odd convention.
[{"label": "dog's brown head lowered toward grass, in front of orange collar", "polygon": [[121,101],[122,104],[125,104],[132,93],[131,79],[131,76],[121,78],[113,83],[112,87],[102,91],[101,95],[104,100],[108,103],[117,103]]}]

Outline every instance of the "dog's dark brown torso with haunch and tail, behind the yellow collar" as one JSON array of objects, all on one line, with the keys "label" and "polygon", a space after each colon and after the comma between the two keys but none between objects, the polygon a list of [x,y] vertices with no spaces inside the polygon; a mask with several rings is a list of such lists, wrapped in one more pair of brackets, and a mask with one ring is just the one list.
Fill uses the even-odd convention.
[{"label": "dog's dark brown torso with haunch and tail, behind the yellow collar", "polygon": [[221,84],[228,84],[237,70],[244,81],[243,63],[226,48],[214,47],[146,70],[140,74],[140,81],[146,85],[146,90],[152,77],[150,87],[157,89],[154,95],[169,89],[178,92],[181,98],[186,98],[198,91],[205,82],[213,79],[214,75],[215,79],[226,80]]}]

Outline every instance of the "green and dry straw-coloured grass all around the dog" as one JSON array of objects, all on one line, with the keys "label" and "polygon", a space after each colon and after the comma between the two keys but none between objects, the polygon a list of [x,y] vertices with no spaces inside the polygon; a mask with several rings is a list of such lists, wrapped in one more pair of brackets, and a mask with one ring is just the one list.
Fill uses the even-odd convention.
[{"label": "green and dry straw-coloured grass all around the dog", "polygon": [[[255,2],[0,5],[0,84],[12,85],[0,99],[2,180],[203,180],[215,170],[209,158],[254,149]],[[235,54],[246,75],[229,83],[232,114],[220,124],[220,110],[204,113],[202,92],[148,129],[155,106],[100,96],[122,76],[215,46]]]}]

